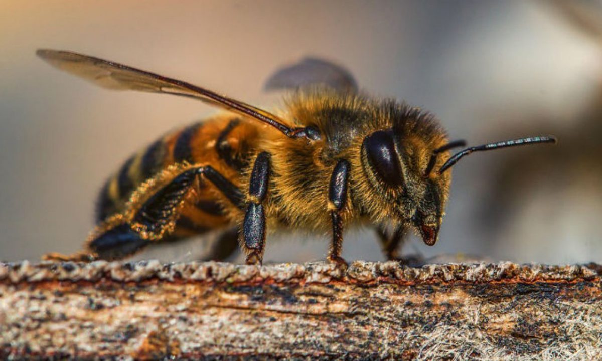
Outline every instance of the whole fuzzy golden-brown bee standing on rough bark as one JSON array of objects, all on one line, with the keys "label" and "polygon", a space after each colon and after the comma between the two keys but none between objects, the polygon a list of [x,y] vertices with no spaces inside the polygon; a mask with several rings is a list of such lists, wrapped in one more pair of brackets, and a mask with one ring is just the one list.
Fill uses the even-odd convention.
[{"label": "whole fuzzy golden-brown bee standing on rough bark", "polygon": [[[218,258],[237,243],[247,264],[261,264],[267,230],[332,232],[327,259],[341,258],[344,227],[376,227],[386,258],[408,230],[439,237],[452,181],[464,156],[527,144],[527,137],[468,147],[448,141],[427,111],[357,91],[347,70],[320,60],[276,73],[268,87],[297,87],[274,113],[188,82],[75,52],[40,49],[61,70],[101,87],[190,97],[226,112],[164,135],[108,179],[98,225],[84,250],[45,259],[121,259],[159,241],[223,229]],[[321,69],[306,87],[303,69]],[[283,85],[284,84],[284,85]],[[277,115],[277,114],[278,115]],[[393,232],[389,232],[392,230]]]}]

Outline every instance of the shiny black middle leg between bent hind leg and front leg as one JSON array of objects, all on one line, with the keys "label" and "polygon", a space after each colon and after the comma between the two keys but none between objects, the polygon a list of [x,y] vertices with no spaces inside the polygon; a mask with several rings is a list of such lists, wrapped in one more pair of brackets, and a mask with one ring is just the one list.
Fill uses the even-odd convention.
[{"label": "shiny black middle leg between bent hind leg and front leg", "polygon": [[265,212],[263,202],[270,180],[270,153],[261,152],[255,159],[249,181],[249,203],[244,214],[243,247],[247,264],[261,264],[265,250]]}]

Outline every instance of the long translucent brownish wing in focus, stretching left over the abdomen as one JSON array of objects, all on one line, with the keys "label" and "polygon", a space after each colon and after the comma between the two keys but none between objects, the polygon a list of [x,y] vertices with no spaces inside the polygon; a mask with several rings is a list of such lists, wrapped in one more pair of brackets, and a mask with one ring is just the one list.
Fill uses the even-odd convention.
[{"label": "long translucent brownish wing in focus, stretching left over the abdomen", "polygon": [[191,97],[210,105],[219,106],[241,116],[255,118],[274,126],[290,137],[294,135],[294,131],[296,130],[285,125],[287,122],[280,117],[265,110],[255,108],[255,106],[222,96],[211,90],[197,87],[184,81],[70,51],[38,49],[36,54],[52,66],[80,76],[104,88]]}]

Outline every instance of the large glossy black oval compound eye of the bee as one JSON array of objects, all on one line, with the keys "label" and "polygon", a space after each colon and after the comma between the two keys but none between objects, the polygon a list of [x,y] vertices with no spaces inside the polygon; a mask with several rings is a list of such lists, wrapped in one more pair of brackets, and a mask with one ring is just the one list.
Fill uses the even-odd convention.
[{"label": "large glossy black oval compound eye of the bee", "polygon": [[368,164],[391,187],[403,185],[402,167],[395,149],[393,131],[376,131],[364,139]]}]

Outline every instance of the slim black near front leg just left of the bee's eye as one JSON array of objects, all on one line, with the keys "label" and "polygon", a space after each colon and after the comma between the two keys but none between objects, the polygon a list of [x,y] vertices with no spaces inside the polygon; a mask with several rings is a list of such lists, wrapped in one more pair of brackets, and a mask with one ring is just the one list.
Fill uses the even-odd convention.
[{"label": "slim black near front leg just left of the bee's eye", "polygon": [[328,260],[337,264],[347,266],[347,262],[341,257],[343,247],[343,209],[347,203],[347,180],[349,179],[349,162],[340,160],[335,165],[330,176],[328,188],[328,208],[332,219],[332,244]]}]

